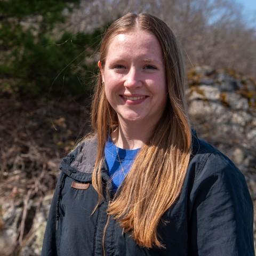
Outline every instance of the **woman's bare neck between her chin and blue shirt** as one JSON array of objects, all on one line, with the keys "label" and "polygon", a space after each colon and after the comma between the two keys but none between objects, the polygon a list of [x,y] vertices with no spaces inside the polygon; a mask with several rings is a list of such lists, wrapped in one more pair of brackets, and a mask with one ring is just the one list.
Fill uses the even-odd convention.
[{"label": "woman's bare neck between her chin and blue shirt", "polygon": [[137,149],[150,139],[152,131],[153,127],[119,120],[118,128],[111,133],[111,139],[119,148]]}]

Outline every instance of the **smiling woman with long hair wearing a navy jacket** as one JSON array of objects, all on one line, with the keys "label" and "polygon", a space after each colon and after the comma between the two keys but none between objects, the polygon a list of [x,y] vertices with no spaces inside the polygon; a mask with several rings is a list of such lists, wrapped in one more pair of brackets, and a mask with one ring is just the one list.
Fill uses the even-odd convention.
[{"label": "smiling woman with long hair wearing a navy jacket", "polygon": [[191,132],[171,29],[126,14],[98,66],[95,132],[60,165],[42,255],[254,255],[245,179]]}]

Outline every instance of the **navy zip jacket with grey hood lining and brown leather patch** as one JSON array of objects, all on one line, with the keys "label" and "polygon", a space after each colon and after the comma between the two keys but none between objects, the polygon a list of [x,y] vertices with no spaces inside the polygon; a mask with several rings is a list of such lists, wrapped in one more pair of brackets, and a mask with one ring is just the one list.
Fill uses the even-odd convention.
[{"label": "navy zip jacket with grey hood lining and brown leather patch", "polygon": [[[92,171],[97,139],[63,158],[52,199],[42,256],[200,255],[253,256],[253,205],[243,174],[217,149],[193,136],[185,182],[177,202],[158,226],[165,249],[138,246],[111,216],[108,171],[102,168],[103,202],[97,204]],[[164,193],[164,191],[163,191]]]}]

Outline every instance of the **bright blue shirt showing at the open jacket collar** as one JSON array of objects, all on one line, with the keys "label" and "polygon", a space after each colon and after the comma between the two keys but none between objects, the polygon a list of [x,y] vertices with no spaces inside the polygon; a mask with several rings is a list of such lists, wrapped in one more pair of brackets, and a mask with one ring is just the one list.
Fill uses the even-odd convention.
[{"label": "bright blue shirt showing at the open jacket collar", "polygon": [[123,182],[139,150],[118,148],[111,138],[106,142],[105,158],[114,190]]}]

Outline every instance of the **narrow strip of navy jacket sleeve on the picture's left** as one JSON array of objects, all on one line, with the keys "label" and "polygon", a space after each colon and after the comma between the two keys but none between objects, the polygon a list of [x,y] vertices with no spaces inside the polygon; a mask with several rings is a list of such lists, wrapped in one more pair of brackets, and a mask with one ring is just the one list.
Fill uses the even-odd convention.
[{"label": "narrow strip of navy jacket sleeve on the picture's left", "polygon": [[53,256],[59,255],[59,229],[57,230],[57,215],[58,215],[58,204],[60,200],[60,189],[62,186],[63,176],[61,173],[57,182],[57,186],[54,191],[54,195],[51,202],[51,207],[47,219],[46,229],[44,233],[44,240],[42,246],[41,256]]}]

